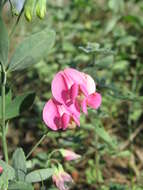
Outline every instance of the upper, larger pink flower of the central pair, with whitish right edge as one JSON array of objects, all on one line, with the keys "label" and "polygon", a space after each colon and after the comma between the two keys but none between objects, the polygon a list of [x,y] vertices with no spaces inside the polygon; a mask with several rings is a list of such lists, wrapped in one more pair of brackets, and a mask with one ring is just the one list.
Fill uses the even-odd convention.
[{"label": "upper, larger pink flower of the central pair, with whitish right edge", "polygon": [[71,68],[56,74],[52,81],[52,94],[70,112],[73,104],[78,111],[81,107],[84,113],[87,113],[87,106],[98,109],[101,105],[101,95],[96,92],[93,78]]}]

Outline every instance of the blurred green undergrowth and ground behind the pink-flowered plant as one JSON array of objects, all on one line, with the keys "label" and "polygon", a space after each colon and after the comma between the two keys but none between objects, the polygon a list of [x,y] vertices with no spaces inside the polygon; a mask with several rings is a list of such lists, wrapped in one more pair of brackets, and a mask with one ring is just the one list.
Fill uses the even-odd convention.
[{"label": "blurred green undergrowth and ground behind the pink-flowered plant", "polygon": [[[9,31],[15,19],[5,14]],[[14,94],[36,92],[31,109],[10,122],[10,154],[16,146],[28,153],[41,137],[42,108],[51,96],[52,78],[73,67],[95,79],[102,106],[98,111],[89,109],[80,128],[51,132],[27,162],[29,170],[45,167],[54,148],[72,148],[82,155],[75,163],[63,162],[75,180],[72,189],[143,189],[143,1],[48,0],[44,20],[35,16],[28,23],[21,18],[11,53],[22,39],[46,26],[56,31],[51,53],[8,79]],[[44,184],[55,189],[51,180]]]}]

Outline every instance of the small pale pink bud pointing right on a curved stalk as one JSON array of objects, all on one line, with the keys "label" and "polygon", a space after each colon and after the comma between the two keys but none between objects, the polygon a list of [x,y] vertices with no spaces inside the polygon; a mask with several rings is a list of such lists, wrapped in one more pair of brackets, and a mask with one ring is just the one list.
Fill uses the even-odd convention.
[{"label": "small pale pink bud pointing right on a curved stalk", "polygon": [[60,152],[61,152],[62,156],[65,158],[65,160],[67,160],[67,161],[76,160],[76,159],[81,158],[81,156],[79,154],[76,154],[75,152],[73,152],[71,150],[60,149]]}]

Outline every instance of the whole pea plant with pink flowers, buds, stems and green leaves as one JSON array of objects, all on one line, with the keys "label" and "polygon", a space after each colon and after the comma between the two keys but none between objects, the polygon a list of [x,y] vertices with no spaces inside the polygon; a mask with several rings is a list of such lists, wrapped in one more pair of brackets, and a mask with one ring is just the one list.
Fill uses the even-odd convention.
[{"label": "whole pea plant with pink flowers, buds, stems and green leaves", "polygon": [[[35,5],[31,4],[35,2]],[[52,177],[53,182],[60,190],[67,190],[65,182],[73,182],[70,174],[64,171],[62,164],[52,159],[55,152],[59,152],[65,161],[80,159],[80,155],[70,149],[56,149],[48,156],[48,168],[27,171],[26,161],[37,146],[47,137],[46,132],[36,143],[28,155],[22,148],[17,148],[12,158],[8,156],[7,132],[8,122],[27,110],[34,101],[35,93],[26,92],[14,98],[12,91],[7,87],[7,76],[13,71],[21,71],[36,64],[49,52],[54,45],[55,32],[45,28],[38,33],[27,37],[21,42],[10,59],[9,35],[5,26],[2,10],[8,3],[0,1],[0,66],[1,66],[1,96],[0,96],[0,137],[3,148],[3,159],[0,160],[0,189],[2,190],[32,190],[35,182],[43,182]],[[13,8],[12,1],[9,1]],[[32,7],[32,6],[33,7]],[[44,17],[46,1],[27,0],[23,4],[20,15],[25,12],[30,21],[36,7],[40,18]],[[19,20],[19,18],[18,18]],[[18,22],[14,27],[16,27]],[[13,33],[12,29],[12,33]],[[40,47],[40,48],[39,48]],[[7,90],[8,89],[8,90]],[[81,112],[87,114],[87,108],[98,109],[101,105],[101,95],[96,92],[92,77],[78,70],[67,68],[58,72],[51,85],[52,97],[43,108],[43,121],[47,128],[53,131],[65,131],[80,126]],[[26,101],[26,103],[25,103]]]}]

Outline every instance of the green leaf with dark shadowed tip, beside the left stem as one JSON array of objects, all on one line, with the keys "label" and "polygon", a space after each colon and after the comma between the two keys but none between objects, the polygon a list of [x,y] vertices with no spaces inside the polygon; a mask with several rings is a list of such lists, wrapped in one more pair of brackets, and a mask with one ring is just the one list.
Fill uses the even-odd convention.
[{"label": "green leaf with dark shadowed tip, beside the left stem", "polygon": [[[22,95],[17,96],[11,100],[11,92],[6,95],[6,119],[12,119],[19,116],[22,112],[27,110],[34,102],[35,93],[28,92]],[[1,105],[1,97],[0,97]],[[0,118],[1,118],[1,109],[0,109]]]}]

